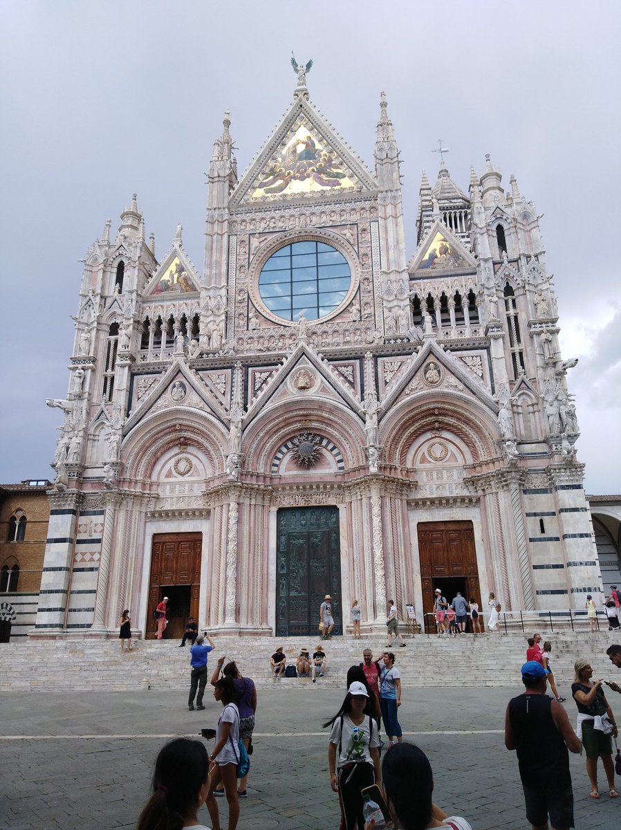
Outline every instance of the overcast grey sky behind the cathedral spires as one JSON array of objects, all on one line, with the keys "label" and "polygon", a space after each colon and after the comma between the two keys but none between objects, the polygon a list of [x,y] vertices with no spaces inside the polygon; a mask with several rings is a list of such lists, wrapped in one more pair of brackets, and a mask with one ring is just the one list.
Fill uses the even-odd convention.
[{"label": "overcast grey sky behind the cathedral spires", "polygon": [[313,103],[373,168],[379,94],[403,159],[408,256],[421,171],[452,178],[491,154],[544,214],[579,461],[619,493],[621,4],[2,0],[0,481],[53,476],[81,257],[138,193],[156,256],[178,222],[203,266],[213,139],[231,111],[239,172],[291,102],[309,58]]}]

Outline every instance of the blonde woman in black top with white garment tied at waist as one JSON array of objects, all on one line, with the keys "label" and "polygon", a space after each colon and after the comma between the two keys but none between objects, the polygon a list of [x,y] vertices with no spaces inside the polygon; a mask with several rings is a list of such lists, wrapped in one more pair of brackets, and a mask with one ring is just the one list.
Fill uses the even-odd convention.
[{"label": "blonde woman in black top with white garment tied at waist", "polygon": [[[602,681],[591,680],[593,669],[586,660],[576,661],[574,668],[575,682],[571,684],[571,694],[576,706],[578,706],[579,714],[589,715],[593,718],[598,716],[607,717],[613,726],[612,734],[616,738],[617,725],[614,722],[613,712],[604,696]],[[604,772],[608,779],[609,797],[619,798],[619,793],[614,789],[613,749],[610,733],[604,735],[604,732],[601,730],[594,729],[593,720],[583,720],[582,745],[586,752],[586,771],[591,783],[591,798],[599,798],[599,789],[597,786],[597,761],[599,758],[602,759]]]}]

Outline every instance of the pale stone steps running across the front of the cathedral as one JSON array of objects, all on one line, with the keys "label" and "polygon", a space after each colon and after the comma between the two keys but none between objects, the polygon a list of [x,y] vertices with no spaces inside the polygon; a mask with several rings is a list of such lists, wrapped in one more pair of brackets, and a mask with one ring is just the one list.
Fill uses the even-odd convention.
[{"label": "pale stone steps running across the front of the cathedral", "polygon": [[[621,642],[618,632],[553,632],[550,662],[560,694],[567,696],[574,677],[574,662],[592,662],[594,676],[621,682],[621,672],[606,657],[606,648]],[[178,642],[134,639],[134,650],[122,654],[118,640],[48,640],[0,644],[0,691],[147,691],[186,689],[189,677],[188,647]],[[295,663],[302,647],[312,653],[316,640],[311,637],[214,637],[217,650],[210,666],[222,654],[235,659],[241,670],[257,686],[282,684],[301,689],[310,680],[281,678],[268,672],[268,657],[282,644],[287,663]],[[406,637],[407,647],[393,651],[405,688],[421,686],[520,686],[520,666],[525,660],[526,636],[519,634],[472,635],[458,637]],[[378,657],[384,650],[384,637],[335,637],[325,642],[329,671],[317,681],[319,686],[342,687],[347,669],[362,660],[365,647]],[[562,686],[562,689],[560,688]]]}]

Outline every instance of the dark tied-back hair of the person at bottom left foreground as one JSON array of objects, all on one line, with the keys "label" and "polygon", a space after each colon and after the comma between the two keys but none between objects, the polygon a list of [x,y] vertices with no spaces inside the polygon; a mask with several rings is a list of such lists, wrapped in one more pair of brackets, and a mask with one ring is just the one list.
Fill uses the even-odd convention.
[{"label": "dark tied-back hair of the person at bottom left foreground", "polygon": [[180,830],[198,808],[198,792],[208,778],[207,749],[198,740],[175,738],[160,749],[153,774],[153,795],[136,830]]}]

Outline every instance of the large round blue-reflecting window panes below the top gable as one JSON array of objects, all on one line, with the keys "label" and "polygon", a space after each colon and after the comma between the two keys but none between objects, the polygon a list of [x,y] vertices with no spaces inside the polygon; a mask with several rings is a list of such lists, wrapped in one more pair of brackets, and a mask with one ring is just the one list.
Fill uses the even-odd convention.
[{"label": "large round blue-reflecting window panes below the top gable", "polygon": [[259,293],[283,320],[319,320],[345,300],[351,271],[345,256],[325,242],[293,242],[262,267]]}]

